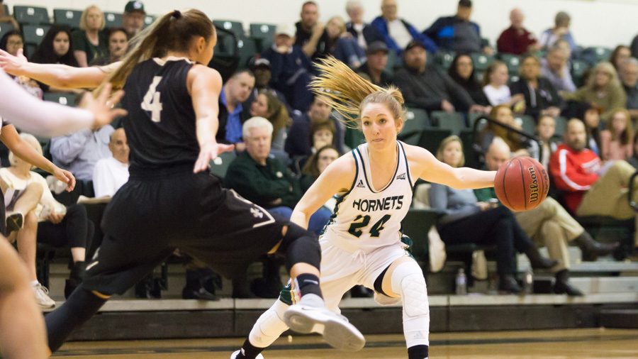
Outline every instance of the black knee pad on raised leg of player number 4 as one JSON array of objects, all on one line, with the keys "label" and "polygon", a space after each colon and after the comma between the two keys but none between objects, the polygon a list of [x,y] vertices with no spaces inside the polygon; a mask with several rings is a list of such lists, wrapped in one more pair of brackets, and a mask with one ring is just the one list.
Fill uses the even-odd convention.
[{"label": "black knee pad on raised leg of player number 4", "polygon": [[308,263],[319,269],[321,247],[317,235],[295,223],[289,223],[279,250],[286,253],[286,269],[289,271],[297,263]]}]

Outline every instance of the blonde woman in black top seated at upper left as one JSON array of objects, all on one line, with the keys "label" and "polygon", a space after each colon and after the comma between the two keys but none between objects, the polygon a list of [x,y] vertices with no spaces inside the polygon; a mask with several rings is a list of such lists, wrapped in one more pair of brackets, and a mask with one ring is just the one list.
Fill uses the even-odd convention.
[{"label": "blonde woman in black top seated at upper left", "polygon": [[96,5],[82,12],[79,30],[72,34],[73,54],[80,67],[87,67],[97,58],[108,56],[108,38],[103,32],[105,24],[104,13]]}]

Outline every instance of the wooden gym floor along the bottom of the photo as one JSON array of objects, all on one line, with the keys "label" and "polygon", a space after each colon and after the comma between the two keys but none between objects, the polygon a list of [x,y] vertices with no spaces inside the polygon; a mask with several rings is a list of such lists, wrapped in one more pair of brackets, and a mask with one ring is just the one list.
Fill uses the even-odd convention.
[{"label": "wooden gym floor along the bottom of the photo", "polygon": [[[366,348],[342,353],[328,348],[317,336],[284,336],[264,352],[267,359],[290,358],[407,358],[401,335],[366,336]],[[556,329],[433,333],[430,358],[570,359],[638,358],[638,329]],[[94,341],[67,343],[55,358],[201,358],[228,359],[243,338],[166,341]]]}]

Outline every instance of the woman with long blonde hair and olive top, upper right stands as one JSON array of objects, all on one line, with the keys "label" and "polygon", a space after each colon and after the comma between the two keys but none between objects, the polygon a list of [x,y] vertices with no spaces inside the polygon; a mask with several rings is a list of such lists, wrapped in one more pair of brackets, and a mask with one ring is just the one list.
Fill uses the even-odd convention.
[{"label": "woman with long blonde hair and olive top, upper right stands", "polygon": [[576,92],[566,94],[566,100],[588,102],[601,109],[600,118],[607,123],[614,109],[622,109],[627,103],[627,95],[622,89],[618,74],[611,62],[598,62],[593,68],[587,84]]}]

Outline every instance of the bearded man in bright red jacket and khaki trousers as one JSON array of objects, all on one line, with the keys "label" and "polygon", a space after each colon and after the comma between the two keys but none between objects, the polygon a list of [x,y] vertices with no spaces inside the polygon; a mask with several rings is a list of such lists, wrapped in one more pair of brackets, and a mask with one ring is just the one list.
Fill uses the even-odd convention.
[{"label": "bearded man in bright red jacket and khaki trousers", "polygon": [[[559,145],[549,160],[557,189],[564,191],[567,208],[578,216],[612,216],[630,219],[638,216],[629,207],[627,187],[634,167],[626,161],[609,161],[601,166],[598,155],[585,148],[587,135],[583,121],[572,118],[567,123],[565,143]],[[634,192],[634,199],[638,190]],[[638,239],[634,234],[634,243]]]}]

